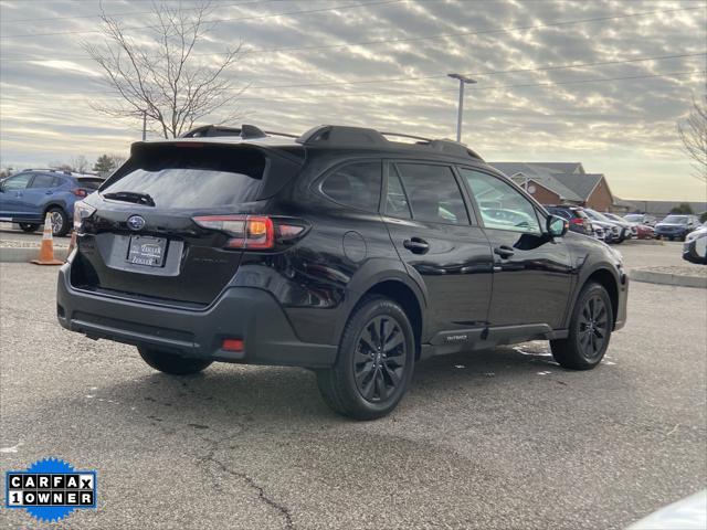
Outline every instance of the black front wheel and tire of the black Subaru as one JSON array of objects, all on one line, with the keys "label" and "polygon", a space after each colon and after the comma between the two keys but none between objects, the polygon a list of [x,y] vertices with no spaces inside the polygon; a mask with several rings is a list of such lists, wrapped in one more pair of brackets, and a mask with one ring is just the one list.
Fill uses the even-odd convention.
[{"label": "black front wheel and tire of the black Subaru", "polygon": [[572,370],[597,367],[609,347],[613,318],[606,289],[594,282],[588,283],[572,308],[568,338],[550,341],[555,360]]}]

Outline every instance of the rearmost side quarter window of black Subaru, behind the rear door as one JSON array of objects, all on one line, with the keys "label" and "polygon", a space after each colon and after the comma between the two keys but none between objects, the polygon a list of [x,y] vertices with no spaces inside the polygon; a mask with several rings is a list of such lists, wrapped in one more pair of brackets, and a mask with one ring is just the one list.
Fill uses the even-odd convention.
[{"label": "rearmost side quarter window of black Subaru, behind the rear door", "polygon": [[381,162],[356,162],[337,169],[321,183],[321,192],[339,204],[378,211]]}]

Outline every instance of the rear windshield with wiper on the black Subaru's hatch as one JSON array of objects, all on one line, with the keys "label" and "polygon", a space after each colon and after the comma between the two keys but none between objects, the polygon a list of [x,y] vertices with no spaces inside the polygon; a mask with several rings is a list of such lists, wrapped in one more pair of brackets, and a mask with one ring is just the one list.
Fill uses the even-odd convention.
[{"label": "rear windshield with wiper on the black Subaru's hatch", "polygon": [[157,208],[225,206],[256,200],[265,157],[247,148],[149,146],[125,168],[122,177],[108,180],[102,194],[147,193]]}]

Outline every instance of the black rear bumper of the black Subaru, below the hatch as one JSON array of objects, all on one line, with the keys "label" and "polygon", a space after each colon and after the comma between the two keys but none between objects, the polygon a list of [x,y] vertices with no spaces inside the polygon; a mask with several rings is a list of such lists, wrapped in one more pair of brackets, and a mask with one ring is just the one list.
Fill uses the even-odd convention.
[{"label": "black rear bumper of the black Subaru, below the hatch", "polygon": [[[92,339],[225,362],[306,368],[335,362],[336,346],[300,341],[277,300],[263,289],[231,287],[209,308],[191,310],[74,289],[70,267],[64,265],[59,274],[59,322]],[[226,338],[243,339],[244,350],[223,350]]]}]

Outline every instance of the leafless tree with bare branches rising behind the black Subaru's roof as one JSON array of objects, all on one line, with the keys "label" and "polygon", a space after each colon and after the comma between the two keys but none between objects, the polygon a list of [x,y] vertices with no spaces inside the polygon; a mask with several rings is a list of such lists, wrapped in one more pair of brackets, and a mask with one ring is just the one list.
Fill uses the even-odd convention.
[{"label": "leafless tree with bare branches rising behind the black Subaru's roof", "polygon": [[[176,138],[193,124],[222,114],[218,124],[238,119],[235,103],[245,88],[224,75],[241,53],[241,44],[222,54],[201,60],[194,53],[215,22],[210,2],[180,9],[166,1],[152,4],[156,23],[149,39],[126,34],[129,28],[102,10],[103,45],[84,43],[84,49],[101,67],[118,100],[114,105],[94,105],[114,117],[147,117],[150,129],[165,138]],[[214,57],[218,57],[214,60]]]}]

